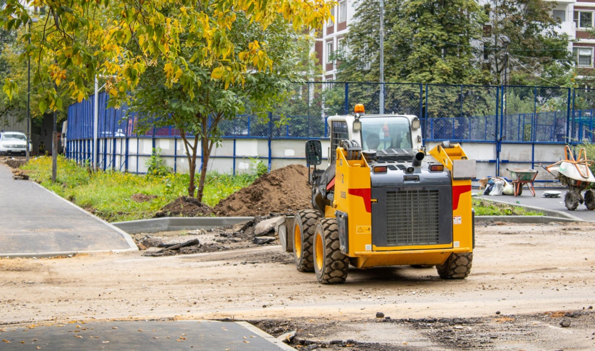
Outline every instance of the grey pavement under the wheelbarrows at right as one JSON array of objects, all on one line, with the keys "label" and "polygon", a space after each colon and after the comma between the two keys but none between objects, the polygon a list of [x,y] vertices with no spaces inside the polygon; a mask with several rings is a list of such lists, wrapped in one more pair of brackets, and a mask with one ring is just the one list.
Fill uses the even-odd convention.
[{"label": "grey pavement under the wheelbarrows at right", "polygon": [[[559,191],[560,198],[547,198],[543,197],[543,192],[545,191]],[[535,206],[546,208],[547,210],[555,210],[560,211],[568,214],[572,214],[572,216],[577,216],[580,219],[588,220],[591,222],[595,222],[595,211],[587,210],[585,205],[578,205],[578,208],[574,211],[569,211],[568,208],[564,205],[564,195],[566,194],[566,189],[535,189],[535,197],[531,194],[531,191],[525,188],[522,189],[522,195],[513,197],[513,196],[487,196],[482,195],[481,197],[477,198],[485,198],[486,200],[496,200],[496,201],[505,201],[506,203],[516,204],[516,201],[519,202],[521,205],[528,205],[528,206]]]}]

